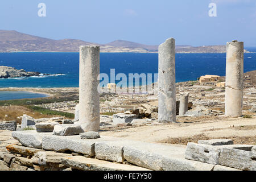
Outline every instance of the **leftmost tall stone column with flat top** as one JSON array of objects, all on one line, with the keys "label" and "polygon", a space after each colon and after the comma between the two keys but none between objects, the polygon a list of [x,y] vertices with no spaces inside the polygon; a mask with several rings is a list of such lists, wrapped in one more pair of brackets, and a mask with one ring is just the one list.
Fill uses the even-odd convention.
[{"label": "leftmost tall stone column with flat top", "polygon": [[84,131],[100,130],[100,46],[80,46],[79,124]]}]

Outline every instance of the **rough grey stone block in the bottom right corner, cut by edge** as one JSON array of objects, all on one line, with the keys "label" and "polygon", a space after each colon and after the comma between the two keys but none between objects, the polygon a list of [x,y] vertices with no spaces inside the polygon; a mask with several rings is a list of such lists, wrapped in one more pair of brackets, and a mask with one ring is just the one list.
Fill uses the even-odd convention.
[{"label": "rough grey stone block in the bottom right corner, cut by edge", "polygon": [[219,163],[245,171],[256,171],[256,153],[233,148],[222,148]]}]

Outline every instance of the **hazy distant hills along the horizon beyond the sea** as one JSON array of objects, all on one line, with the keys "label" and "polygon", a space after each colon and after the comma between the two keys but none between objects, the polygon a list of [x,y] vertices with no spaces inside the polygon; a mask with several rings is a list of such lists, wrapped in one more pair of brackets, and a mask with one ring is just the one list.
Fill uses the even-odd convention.
[{"label": "hazy distant hills along the horizon beyond the sea", "polygon": [[[100,46],[101,52],[158,52],[158,46],[148,46],[126,40],[97,44],[77,39],[53,40],[23,34],[17,31],[0,30],[0,52],[79,52],[79,46]],[[177,53],[222,53],[226,46],[177,45]]]}]

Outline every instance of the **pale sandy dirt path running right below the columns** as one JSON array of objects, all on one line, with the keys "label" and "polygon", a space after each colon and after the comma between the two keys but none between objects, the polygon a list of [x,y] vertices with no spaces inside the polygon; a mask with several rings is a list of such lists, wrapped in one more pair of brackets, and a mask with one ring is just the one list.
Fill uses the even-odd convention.
[{"label": "pale sandy dirt path running right below the columns", "polygon": [[256,144],[256,117],[253,119],[227,118],[225,120],[173,123],[168,125],[141,126],[125,130],[106,131],[104,136],[122,137],[144,142],[159,142],[168,138],[206,135],[210,138],[250,137]]}]

